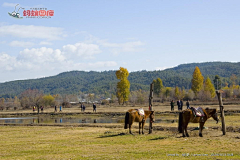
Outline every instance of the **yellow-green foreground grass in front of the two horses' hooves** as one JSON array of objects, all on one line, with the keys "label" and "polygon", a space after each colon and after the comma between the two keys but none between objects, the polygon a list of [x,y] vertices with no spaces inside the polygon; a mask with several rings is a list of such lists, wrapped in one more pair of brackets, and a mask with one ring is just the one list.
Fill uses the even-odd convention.
[{"label": "yellow-green foreground grass in front of the two horses' hooves", "polygon": [[[118,128],[1,126],[1,159],[240,159],[240,135],[215,131],[203,138]],[[197,133],[197,131],[196,131]],[[189,156],[184,156],[189,155]]]}]

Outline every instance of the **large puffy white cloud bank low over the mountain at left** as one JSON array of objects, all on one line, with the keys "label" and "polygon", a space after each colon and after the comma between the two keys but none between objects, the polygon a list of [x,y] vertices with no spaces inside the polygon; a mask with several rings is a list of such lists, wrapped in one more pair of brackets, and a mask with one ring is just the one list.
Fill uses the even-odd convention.
[{"label": "large puffy white cloud bank low over the mountain at left", "polygon": [[[12,45],[18,43],[16,41]],[[20,42],[19,44],[25,43]],[[114,61],[80,62],[82,59],[94,58],[94,55],[100,52],[98,45],[85,43],[68,44],[61,49],[47,47],[26,48],[20,51],[17,56],[1,53],[0,72],[63,72],[66,70],[99,70],[100,68],[117,66],[117,63]]]}]

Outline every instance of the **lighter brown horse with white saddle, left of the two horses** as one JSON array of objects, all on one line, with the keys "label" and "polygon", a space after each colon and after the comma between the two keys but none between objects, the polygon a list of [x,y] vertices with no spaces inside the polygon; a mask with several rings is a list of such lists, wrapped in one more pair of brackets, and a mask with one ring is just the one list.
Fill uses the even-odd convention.
[{"label": "lighter brown horse with white saddle, left of the two horses", "polygon": [[133,122],[139,122],[139,134],[141,134],[140,129],[142,129],[142,134],[144,134],[143,127],[144,127],[145,122],[148,117],[150,118],[151,122],[154,122],[155,121],[154,111],[144,110],[144,116],[141,116],[138,113],[137,109],[130,109],[126,112],[126,115],[125,115],[124,129],[127,129],[129,127],[129,133],[132,134],[131,127],[132,127]]}]

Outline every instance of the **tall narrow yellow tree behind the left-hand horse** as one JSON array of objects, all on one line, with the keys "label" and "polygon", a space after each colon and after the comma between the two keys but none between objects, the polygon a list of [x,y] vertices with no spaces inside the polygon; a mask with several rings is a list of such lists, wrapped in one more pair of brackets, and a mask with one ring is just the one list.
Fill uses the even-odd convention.
[{"label": "tall narrow yellow tree behind the left-hand horse", "polygon": [[124,104],[130,94],[130,82],[127,79],[128,75],[129,73],[126,68],[120,67],[120,69],[116,71],[116,77],[120,80],[120,82],[117,83],[117,98],[119,104]]}]

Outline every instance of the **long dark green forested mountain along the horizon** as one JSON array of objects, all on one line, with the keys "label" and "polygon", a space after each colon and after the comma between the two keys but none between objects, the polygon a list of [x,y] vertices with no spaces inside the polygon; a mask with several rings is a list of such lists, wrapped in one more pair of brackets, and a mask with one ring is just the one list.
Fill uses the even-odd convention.
[{"label": "long dark green forested mountain along the horizon", "polygon": [[[237,84],[239,84],[240,63],[206,62],[182,64],[163,71],[131,72],[128,77],[131,84],[130,90],[149,90],[150,83],[156,78],[161,78],[164,86],[188,89],[191,86],[192,74],[196,66],[205,78],[209,76],[213,80],[215,75],[219,75],[223,83],[231,84],[229,77],[235,74],[238,77]],[[117,82],[115,71],[71,71],[52,77],[0,83],[0,97],[19,95],[29,88],[50,94],[75,94],[79,91],[96,94],[115,93]]]}]

